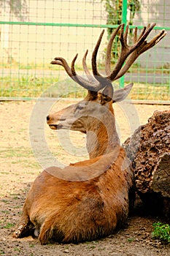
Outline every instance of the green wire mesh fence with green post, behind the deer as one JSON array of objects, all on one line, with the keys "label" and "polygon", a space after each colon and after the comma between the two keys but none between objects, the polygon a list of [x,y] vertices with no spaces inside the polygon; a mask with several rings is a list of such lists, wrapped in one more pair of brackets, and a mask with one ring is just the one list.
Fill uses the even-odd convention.
[{"label": "green wire mesh fence with green post, behind the deer", "polygon": [[[109,33],[119,23],[137,26],[157,23],[150,37],[166,29],[166,37],[144,53],[115,86],[135,83],[131,98],[169,102],[170,99],[170,1],[169,0],[15,0],[0,1],[0,80],[4,99],[31,99],[45,96],[82,97],[61,67],[51,65],[55,56],[70,63],[79,53],[77,72],[88,48],[88,66],[101,29],[104,39],[98,54],[103,67]],[[150,38],[148,38],[150,39]],[[115,56],[118,46],[115,45]],[[58,82],[58,80],[60,82]],[[74,91],[69,93],[68,91]]]}]

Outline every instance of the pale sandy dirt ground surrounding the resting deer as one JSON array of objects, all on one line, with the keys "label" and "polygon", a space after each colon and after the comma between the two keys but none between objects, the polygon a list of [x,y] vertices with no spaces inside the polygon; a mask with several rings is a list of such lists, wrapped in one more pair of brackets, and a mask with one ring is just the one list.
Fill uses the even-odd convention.
[{"label": "pale sandy dirt ground surrounding the resting deer", "polygon": [[[72,103],[61,101],[54,108],[63,108]],[[20,219],[26,193],[36,176],[42,171],[41,162],[36,162],[30,145],[29,127],[30,117],[35,102],[0,102],[0,145],[1,145],[1,184],[0,184],[0,255],[117,255],[117,256],[168,256],[170,246],[163,245],[159,241],[152,240],[152,224],[161,221],[158,217],[150,217],[144,213],[139,200],[136,202],[134,213],[128,219],[128,225],[123,230],[98,241],[91,241],[82,244],[37,244],[34,238],[15,239],[12,233],[15,225]],[[145,124],[155,110],[166,110],[169,105],[134,105],[132,115],[128,113],[131,108],[121,108],[115,105],[115,116],[120,139],[123,142],[139,124]],[[135,111],[134,111],[135,110]],[[41,112],[41,111],[40,111]],[[40,116],[41,113],[38,113]],[[62,136],[50,130],[45,124],[45,140],[49,151],[57,157],[62,164],[77,162],[87,158],[85,154],[85,138],[74,132],[70,132],[70,148],[61,143]],[[42,116],[43,116],[42,115]],[[30,132],[31,131],[31,132]],[[31,140],[33,140],[31,138]],[[34,138],[34,142],[36,139]],[[35,144],[34,144],[35,145]],[[41,149],[39,144],[37,147]],[[33,148],[34,151],[37,148]],[[80,151],[84,153],[81,155]]]}]

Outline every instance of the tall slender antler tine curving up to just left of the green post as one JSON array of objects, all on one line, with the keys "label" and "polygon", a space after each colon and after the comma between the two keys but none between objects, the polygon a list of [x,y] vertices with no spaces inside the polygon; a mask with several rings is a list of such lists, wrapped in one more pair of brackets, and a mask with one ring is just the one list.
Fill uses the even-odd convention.
[{"label": "tall slender antler tine curving up to just left of the green post", "polygon": [[109,75],[111,73],[111,65],[110,64],[111,64],[112,43],[117,35],[117,32],[120,29],[120,26],[121,26],[121,24],[119,26],[117,26],[117,29],[115,29],[115,31],[112,33],[112,35],[109,39],[108,45],[107,45],[106,66],[105,66],[106,75]]}]

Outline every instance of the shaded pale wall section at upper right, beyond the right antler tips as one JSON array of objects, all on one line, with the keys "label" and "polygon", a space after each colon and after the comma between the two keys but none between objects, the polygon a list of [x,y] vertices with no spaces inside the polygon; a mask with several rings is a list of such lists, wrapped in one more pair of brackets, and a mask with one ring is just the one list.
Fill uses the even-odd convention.
[{"label": "shaded pale wall section at upper right, beyond the right antler tips", "polygon": [[[142,0],[141,12],[136,13],[134,24],[147,26],[148,23],[156,23],[156,26],[166,28],[170,26],[170,1],[169,0]],[[152,37],[158,34],[159,31],[152,31]],[[169,67],[170,62],[170,31],[167,30],[167,35],[158,43],[155,48],[152,48],[147,53],[140,57],[142,67],[150,65],[150,67]]]}]

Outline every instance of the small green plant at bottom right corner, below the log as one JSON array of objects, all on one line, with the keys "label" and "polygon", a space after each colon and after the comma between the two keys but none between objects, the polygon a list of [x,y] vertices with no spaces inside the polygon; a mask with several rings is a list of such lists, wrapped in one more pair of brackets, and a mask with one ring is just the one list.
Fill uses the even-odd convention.
[{"label": "small green plant at bottom right corner, below the log", "polygon": [[165,243],[170,243],[170,226],[169,224],[163,224],[162,222],[153,223],[154,230],[152,232],[152,238],[159,239]]}]

